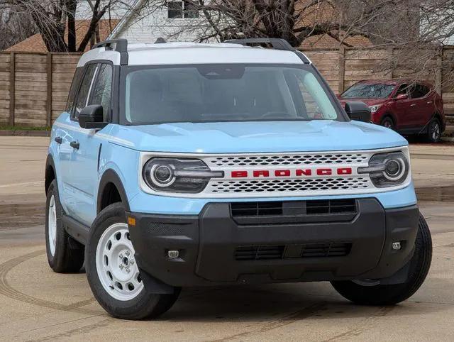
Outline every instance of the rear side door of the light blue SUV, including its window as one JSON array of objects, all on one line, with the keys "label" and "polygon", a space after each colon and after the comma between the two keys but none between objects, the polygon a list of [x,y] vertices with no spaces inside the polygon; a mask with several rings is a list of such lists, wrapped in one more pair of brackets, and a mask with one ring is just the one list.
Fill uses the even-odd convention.
[{"label": "rear side door of the light blue SUV, including its window", "polygon": [[[60,126],[60,136],[62,143],[60,144],[60,160],[64,160],[61,164],[61,179],[62,179],[62,198],[64,199],[64,209],[72,216],[83,223],[86,222],[87,203],[92,197],[92,193],[87,189],[86,184],[81,182],[80,172],[84,172],[82,165],[82,154],[84,153],[84,145],[80,145],[85,136],[90,134],[89,131],[79,126],[78,116],[80,111],[87,106],[88,96],[94,75],[96,65],[90,64],[84,67],[84,75],[80,82],[77,95],[72,105],[70,116],[67,117],[64,125]],[[86,175],[85,177],[88,177]]]}]

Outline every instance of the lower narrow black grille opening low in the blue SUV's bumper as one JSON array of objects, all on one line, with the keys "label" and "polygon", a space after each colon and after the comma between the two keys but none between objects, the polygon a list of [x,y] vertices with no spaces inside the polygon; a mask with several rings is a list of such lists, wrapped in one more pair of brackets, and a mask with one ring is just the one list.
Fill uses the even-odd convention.
[{"label": "lower narrow black grille opening low in the blue SUV's bumper", "polygon": [[235,260],[287,260],[295,258],[343,257],[351,243],[310,243],[305,245],[238,246]]}]

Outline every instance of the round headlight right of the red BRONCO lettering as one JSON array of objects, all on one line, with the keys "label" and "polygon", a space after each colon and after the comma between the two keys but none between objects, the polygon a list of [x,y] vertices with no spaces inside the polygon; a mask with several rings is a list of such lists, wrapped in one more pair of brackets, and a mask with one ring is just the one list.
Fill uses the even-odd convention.
[{"label": "round headlight right of the red BRONCO lettering", "polygon": [[372,155],[368,167],[358,167],[358,173],[368,173],[375,187],[394,187],[405,182],[409,162],[402,152]]}]

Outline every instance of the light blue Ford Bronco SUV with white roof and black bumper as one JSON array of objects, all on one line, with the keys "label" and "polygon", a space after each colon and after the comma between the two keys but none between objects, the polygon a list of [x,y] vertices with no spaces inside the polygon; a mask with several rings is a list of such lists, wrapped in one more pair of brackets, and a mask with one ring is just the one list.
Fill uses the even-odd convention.
[{"label": "light blue Ford Bronco SUV with white roof and black bumper", "polygon": [[431,236],[406,140],[369,122],[285,40],[99,43],[52,126],[49,265],[84,265],[123,319],[204,285],[330,281],[357,304],[401,302]]}]

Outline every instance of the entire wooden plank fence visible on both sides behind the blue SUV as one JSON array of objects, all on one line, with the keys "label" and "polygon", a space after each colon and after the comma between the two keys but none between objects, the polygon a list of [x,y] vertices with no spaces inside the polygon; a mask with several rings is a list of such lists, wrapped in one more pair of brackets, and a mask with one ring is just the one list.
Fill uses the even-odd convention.
[{"label": "entire wooden plank fence visible on both sides behind the blue SUV", "polygon": [[[411,77],[408,70],[378,71],[393,50],[304,50],[334,92],[339,93],[360,79]],[[454,87],[442,87],[443,59],[454,55],[446,47],[429,63],[426,77],[443,96],[445,111],[454,114]],[[0,125],[50,126],[65,109],[79,53],[0,52]],[[452,61],[452,60],[451,60]]]}]

